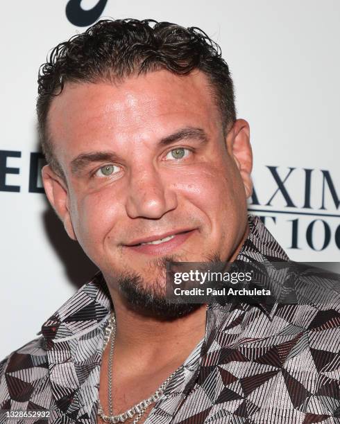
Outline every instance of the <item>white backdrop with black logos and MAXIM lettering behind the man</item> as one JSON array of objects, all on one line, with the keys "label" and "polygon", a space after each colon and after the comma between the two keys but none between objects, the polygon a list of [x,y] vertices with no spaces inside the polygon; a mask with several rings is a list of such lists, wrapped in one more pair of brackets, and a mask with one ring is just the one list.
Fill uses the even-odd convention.
[{"label": "white backdrop with black logos and MAXIM lettering behind the man", "polygon": [[340,3],[324,0],[35,0],[1,5],[0,359],[96,268],[47,204],[37,71],[100,17],[198,26],[222,48],[237,115],[250,123],[250,213],[294,259],[340,261]]}]

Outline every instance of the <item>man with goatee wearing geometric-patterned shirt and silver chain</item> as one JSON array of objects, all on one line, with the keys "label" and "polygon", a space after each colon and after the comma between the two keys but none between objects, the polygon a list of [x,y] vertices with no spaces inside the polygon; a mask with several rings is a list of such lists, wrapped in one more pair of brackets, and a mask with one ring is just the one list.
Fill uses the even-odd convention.
[{"label": "man with goatee wearing geometric-patterned shirt and silver chain", "polygon": [[[249,127],[218,46],[99,21],[52,51],[37,114],[46,195],[101,272],[3,360],[1,422],[340,422],[336,276],[298,268],[247,216]],[[235,261],[322,302],[167,299],[167,264]]]}]

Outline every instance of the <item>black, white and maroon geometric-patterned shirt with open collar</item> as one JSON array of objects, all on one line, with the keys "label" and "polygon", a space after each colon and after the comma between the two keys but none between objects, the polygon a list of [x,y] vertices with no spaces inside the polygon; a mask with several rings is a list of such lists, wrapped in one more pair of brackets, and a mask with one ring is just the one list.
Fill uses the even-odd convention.
[{"label": "black, white and maroon geometric-patterned shirt with open collar", "polygon": [[[312,304],[212,303],[204,339],[169,381],[145,424],[340,423],[339,276],[289,260],[257,217],[237,260],[280,263],[289,290]],[[277,292],[282,281],[271,279]],[[276,285],[276,286],[275,286]],[[39,337],[0,362],[0,409],[49,410],[49,423],[96,423],[103,330],[112,303],[103,276],[83,285]],[[146,394],[147,395],[147,394]],[[42,423],[6,418],[0,423]]]}]

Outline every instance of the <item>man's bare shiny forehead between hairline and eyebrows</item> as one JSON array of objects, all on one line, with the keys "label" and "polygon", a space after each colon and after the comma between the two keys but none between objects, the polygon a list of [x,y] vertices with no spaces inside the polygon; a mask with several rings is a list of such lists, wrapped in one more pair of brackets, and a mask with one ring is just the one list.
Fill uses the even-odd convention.
[{"label": "man's bare shiny forehead between hairline and eyebrows", "polygon": [[[109,82],[66,84],[52,100],[49,135],[58,159],[97,143],[128,137],[155,139],[183,125],[207,130],[220,121],[207,76],[155,71]],[[96,145],[96,148],[99,148]]]}]

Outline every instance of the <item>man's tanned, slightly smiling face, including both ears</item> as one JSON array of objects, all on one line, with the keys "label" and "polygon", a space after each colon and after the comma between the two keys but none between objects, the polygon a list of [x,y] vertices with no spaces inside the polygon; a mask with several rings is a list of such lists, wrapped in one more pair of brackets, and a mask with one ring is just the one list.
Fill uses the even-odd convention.
[{"label": "man's tanned, slightly smiling face, including both ears", "polygon": [[230,260],[239,249],[251,190],[248,125],[237,121],[223,136],[200,71],[67,84],[48,124],[67,184],[47,167],[46,193],[107,281],[132,272],[157,291],[162,259]]}]

